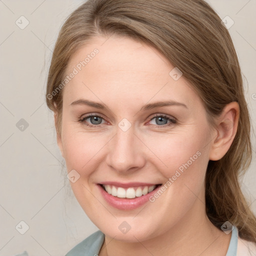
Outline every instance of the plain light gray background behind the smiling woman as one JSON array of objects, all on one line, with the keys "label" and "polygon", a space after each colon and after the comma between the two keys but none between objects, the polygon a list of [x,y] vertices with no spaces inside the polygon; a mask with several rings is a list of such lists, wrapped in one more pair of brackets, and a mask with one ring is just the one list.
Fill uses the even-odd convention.
[{"label": "plain light gray background behind the smiling woman", "polygon": [[[82,2],[0,0],[0,256],[24,250],[29,256],[64,255],[97,230],[70,190],[53,115],[44,100],[57,33]],[[228,15],[234,20],[229,31],[256,120],[256,0],[208,2],[221,19]],[[29,21],[24,29],[15,24],[21,15]],[[28,123],[23,131],[16,127],[21,118]],[[255,127],[255,121],[252,124]],[[255,145],[254,135],[252,142]],[[255,167],[253,146],[253,162],[242,178],[242,189],[256,213]],[[29,226],[24,234],[15,229],[21,220]]]}]

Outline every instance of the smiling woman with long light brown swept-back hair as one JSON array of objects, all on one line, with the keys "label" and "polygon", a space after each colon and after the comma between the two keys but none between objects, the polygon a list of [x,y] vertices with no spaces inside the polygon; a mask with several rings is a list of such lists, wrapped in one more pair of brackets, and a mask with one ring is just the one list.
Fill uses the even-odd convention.
[{"label": "smiling woman with long light brown swept-back hair", "polygon": [[256,253],[241,71],[206,2],[88,0],[60,30],[46,101],[100,229],[66,256]]}]

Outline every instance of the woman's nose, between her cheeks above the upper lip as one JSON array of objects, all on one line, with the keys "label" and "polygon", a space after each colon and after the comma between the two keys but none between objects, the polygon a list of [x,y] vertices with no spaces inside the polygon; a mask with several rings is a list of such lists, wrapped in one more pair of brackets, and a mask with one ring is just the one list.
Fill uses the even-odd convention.
[{"label": "woman's nose, between her cheeks above the upper lip", "polygon": [[115,136],[108,142],[106,163],[117,172],[136,171],[145,164],[143,148],[132,126],[127,131],[117,127]]}]

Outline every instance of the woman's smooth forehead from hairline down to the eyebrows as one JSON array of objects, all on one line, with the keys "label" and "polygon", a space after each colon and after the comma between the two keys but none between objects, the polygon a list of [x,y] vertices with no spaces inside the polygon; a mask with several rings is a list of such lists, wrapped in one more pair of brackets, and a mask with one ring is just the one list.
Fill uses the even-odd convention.
[{"label": "woman's smooth forehead from hairline down to the eyebrows", "polygon": [[148,44],[123,36],[97,36],[69,60],[66,75],[74,70],[75,75],[64,87],[67,93],[63,93],[63,100],[76,100],[88,94],[107,98],[109,102],[116,101],[117,97],[143,102],[170,96],[177,101],[184,98],[192,101],[192,97],[198,100],[186,79],[182,76],[173,79],[170,73],[173,68],[175,66]]}]

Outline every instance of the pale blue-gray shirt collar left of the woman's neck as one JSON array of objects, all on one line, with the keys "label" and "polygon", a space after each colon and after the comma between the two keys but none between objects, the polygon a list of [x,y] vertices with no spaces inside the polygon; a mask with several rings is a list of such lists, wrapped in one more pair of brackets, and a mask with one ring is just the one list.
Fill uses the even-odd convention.
[{"label": "pale blue-gray shirt collar left of the woman's neck", "polygon": [[104,238],[104,234],[98,230],[75,245],[65,254],[65,256],[93,256],[99,252],[99,249],[104,242]]}]

